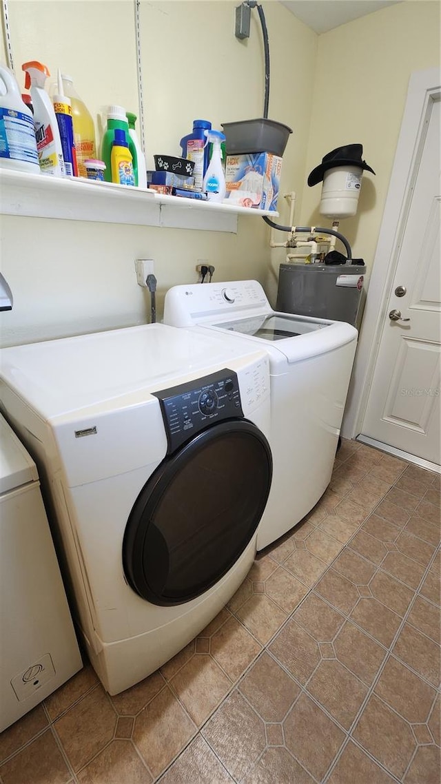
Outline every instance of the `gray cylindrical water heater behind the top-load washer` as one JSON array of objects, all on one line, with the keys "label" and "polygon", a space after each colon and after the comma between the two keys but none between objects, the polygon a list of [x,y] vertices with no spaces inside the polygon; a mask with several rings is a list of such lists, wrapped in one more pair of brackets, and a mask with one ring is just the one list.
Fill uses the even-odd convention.
[{"label": "gray cylindrical water heater behind the top-load washer", "polygon": [[365,274],[366,267],[355,264],[281,264],[276,310],[359,328]]}]

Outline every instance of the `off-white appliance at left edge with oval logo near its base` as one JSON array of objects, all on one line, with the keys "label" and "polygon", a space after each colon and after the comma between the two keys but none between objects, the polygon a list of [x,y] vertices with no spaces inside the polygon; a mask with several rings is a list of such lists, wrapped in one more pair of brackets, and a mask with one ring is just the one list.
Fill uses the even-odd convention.
[{"label": "off-white appliance at left edge with oval logo near its base", "polygon": [[0,416],[0,732],[82,668],[37,468]]}]

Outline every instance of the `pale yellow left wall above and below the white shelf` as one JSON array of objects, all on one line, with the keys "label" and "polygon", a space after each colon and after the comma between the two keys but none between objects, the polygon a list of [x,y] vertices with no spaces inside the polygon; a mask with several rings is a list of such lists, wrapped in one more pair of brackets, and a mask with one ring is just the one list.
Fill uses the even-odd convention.
[{"label": "pale yellow left wall above and below the white shelf", "polygon": [[[154,153],[180,154],[179,140],[196,117],[220,127],[261,116],[261,28],[253,12],[250,38],[239,42],[235,5],[142,0],[149,167]],[[279,2],[265,3],[264,10],[272,67],[269,116],[293,128],[282,171],[282,190],[290,191],[304,180],[318,36]],[[70,72],[98,128],[108,103],[137,112],[131,0],[9,0],[9,13],[19,78],[25,60],[41,60],[52,73],[59,66]],[[0,314],[2,345],[145,321],[148,298],[134,271],[139,256],[155,259],[159,314],[166,289],[197,281],[198,260],[216,267],[213,280],[265,283],[271,257],[268,227],[256,216],[239,217],[237,235],[7,216],[0,227],[2,270],[14,294],[13,311]]]}]

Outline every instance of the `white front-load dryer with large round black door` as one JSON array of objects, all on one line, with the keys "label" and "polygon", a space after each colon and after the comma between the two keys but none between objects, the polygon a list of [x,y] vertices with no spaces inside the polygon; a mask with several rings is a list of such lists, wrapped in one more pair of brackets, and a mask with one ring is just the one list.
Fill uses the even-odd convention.
[{"label": "white front-load dryer with large round black door", "polygon": [[249,571],[272,477],[268,356],[144,325],[0,351],[78,625],[111,693],[183,648]]}]

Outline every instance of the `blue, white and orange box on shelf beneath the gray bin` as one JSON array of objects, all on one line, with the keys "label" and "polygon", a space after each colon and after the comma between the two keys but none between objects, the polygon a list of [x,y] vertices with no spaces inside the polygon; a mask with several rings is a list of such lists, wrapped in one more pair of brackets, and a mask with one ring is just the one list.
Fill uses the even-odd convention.
[{"label": "blue, white and orange box on shelf beneath the gray bin", "polygon": [[277,209],[282,158],[271,152],[227,155],[225,199],[253,209]]}]

